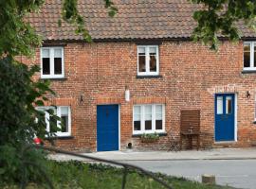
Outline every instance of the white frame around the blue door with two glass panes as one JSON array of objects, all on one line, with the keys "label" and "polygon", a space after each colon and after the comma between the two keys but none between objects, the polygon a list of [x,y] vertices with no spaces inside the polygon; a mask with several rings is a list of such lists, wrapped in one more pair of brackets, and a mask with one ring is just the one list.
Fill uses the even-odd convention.
[{"label": "white frame around the blue door with two glass panes", "polygon": [[[216,141],[216,132],[215,132],[215,128],[216,128],[216,112],[215,112],[215,100],[216,100],[216,94],[234,94],[234,140],[233,141]],[[213,107],[213,112],[214,112],[214,143],[230,143],[230,142],[237,142],[237,93],[215,93],[214,94],[214,107]]]}]

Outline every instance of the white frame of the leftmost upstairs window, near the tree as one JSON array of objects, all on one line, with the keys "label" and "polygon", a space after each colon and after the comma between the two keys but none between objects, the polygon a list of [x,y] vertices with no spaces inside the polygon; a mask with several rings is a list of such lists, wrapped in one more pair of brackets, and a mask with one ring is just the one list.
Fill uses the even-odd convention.
[{"label": "white frame of the leftmost upstairs window, near the tree", "polygon": [[[62,74],[54,74],[54,50],[62,50]],[[50,74],[43,74],[43,50],[49,50],[49,59],[50,59]],[[41,60],[41,78],[63,78],[64,77],[64,47],[63,46],[54,46],[54,47],[41,47],[40,49],[40,60]]]}]

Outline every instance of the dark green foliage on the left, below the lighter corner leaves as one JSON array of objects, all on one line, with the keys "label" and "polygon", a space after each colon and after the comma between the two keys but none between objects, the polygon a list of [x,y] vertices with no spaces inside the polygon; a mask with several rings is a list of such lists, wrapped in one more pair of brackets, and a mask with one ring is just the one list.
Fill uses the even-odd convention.
[{"label": "dark green foliage on the left, below the lighter corner leaves", "polygon": [[[27,149],[27,145],[35,136],[44,139],[53,135],[46,132],[45,114],[34,108],[44,105],[44,95],[53,92],[48,81],[31,79],[38,70],[37,66],[28,69],[11,56],[0,60],[0,182],[42,180],[45,154]],[[50,125],[56,128],[60,119],[51,113]],[[38,169],[34,163],[41,167]]]}]

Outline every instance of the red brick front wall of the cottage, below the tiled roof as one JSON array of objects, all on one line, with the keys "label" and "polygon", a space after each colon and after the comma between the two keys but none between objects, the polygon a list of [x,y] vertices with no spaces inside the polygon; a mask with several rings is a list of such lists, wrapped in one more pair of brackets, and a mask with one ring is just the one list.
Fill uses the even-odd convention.
[{"label": "red brick front wall of the cottage, below the tiled roof", "polygon": [[[223,43],[219,52],[189,42],[164,42],[159,45],[160,76],[137,78],[136,43],[68,43],[64,46],[65,79],[55,79],[52,103],[71,106],[73,139],[58,140],[68,149],[96,150],[96,108],[99,104],[120,105],[120,145],[128,143],[140,149],[166,149],[168,136],[152,144],[141,144],[132,137],[133,105],[165,104],[165,126],[179,138],[182,109],[201,110],[201,145],[214,146],[214,94],[237,94],[238,142],[232,146],[250,146],[256,142],[254,121],[256,74],[242,74],[243,43]],[[39,51],[33,60],[39,63]],[[25,58],[23,61],[29,62]],[[39,75],[38,75],[39,77]],[[125,86],[131,101],[125,102]],[[247,91],[251,97],[247,99]],[[79,99],[83,97],[81,104]],[[54,101],[54,98],[57,100]],[[58,105],[59,105],[58,104]]]}]

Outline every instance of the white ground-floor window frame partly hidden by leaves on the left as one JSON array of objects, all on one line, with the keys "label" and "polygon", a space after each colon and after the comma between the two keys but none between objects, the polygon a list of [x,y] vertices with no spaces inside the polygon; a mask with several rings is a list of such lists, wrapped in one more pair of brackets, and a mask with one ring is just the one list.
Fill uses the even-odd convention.
[{"label": "white ground-floor window frame partly hidden by leaves on the left", "polygon": [[[44,107],[37,107],[36,109],[38,111],[44,111],[45,114],[45,118],[46,118],[46,131],[50,131],[50,125],[49,125],[49,113],[46,112],[46,110],[49,109],[55,109],[56,110],[56,115],[59,116],[61,118],[61,108],[67,108],[68,109],[68,125],[67,125],[67,132],[62,132],[62,131],[57,131],[55,132],[56,136],[71,136],[71,109],[69,106],[57,106],[52,107],[52,106],[44,106]],[[61,128],[61,121],[57,121],[57,127]]]}]

